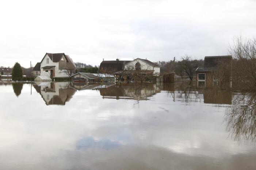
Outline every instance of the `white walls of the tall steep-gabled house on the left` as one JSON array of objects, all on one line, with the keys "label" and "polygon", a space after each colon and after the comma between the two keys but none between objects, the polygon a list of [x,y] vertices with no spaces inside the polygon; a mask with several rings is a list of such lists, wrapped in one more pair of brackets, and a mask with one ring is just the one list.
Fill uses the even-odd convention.
[{"label": "white walls of the tall steep-gabled house on the left", "polygon": [[[65,60],[65,57],[62,56]],[[46,59],[49,58],[49,64],[46,64]],[[65,60],[66,61],[66,60]],[[68,74],[65,73],[64,70],[59,70],[59,63],[53,62],[51,58],[46,54],[45,58],[43,59],[41,63],[41,73],[40,76],[49,76],[50,77],[50,70],[48,72],[44,71],[42,67],[45,66],[55,66],[55,77],[69,77]]]}]

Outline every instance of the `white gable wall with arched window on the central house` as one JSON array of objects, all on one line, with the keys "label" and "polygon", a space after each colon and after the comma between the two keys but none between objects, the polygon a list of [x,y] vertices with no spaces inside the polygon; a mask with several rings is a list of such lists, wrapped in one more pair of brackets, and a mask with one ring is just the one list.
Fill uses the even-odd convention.
[{"label": "white gable wall with arched window on the central house", "polygon": [[135,59],[129,63],[126,63],[125,65],[125,69],[129,70],[129,69],[133,69],[135,70],[135,64],[137,62],[140,62],[141,64],[141,70],[154,70],[154,74],[160,74],[160,68],[159,67],[153,67],[152,65],[148,64],[147,62],[145,62],[144,60],[140,60],[140,59]]}]

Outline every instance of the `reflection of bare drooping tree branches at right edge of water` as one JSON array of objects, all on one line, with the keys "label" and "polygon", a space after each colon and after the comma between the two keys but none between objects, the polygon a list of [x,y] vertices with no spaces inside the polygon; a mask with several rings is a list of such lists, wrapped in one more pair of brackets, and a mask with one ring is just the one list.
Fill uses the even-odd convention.
[{"label": "reflection of bare drooping tree branches at right edge of water", "polygon": [[227,130],[232,138],[256,142],[256,94],[238,94],[226,109]]}]

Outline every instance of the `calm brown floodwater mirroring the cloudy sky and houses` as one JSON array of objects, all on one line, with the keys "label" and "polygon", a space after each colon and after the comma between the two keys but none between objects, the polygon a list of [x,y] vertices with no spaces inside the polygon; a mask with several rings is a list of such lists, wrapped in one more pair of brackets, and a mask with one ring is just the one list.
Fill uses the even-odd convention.
[{"label": "calm brown floodwater mirroring the cloudy sky and houses", "polygon": [[0,85],[1,170],[253,170],[256,96],[181,84]]}]

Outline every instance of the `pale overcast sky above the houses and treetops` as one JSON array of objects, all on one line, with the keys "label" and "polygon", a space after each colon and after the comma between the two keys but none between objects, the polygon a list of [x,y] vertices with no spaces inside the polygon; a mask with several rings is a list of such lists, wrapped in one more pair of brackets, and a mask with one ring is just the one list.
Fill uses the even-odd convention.
[{"label": "pale overcast sky above the houses and treetops", "polygon": [[46,52],[74,62],[179,60],[228,54],[256,37],[256,0],[8,0],[0,2],[0,66],[29,67]]}]

